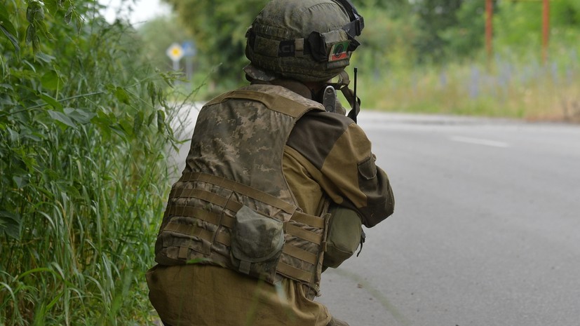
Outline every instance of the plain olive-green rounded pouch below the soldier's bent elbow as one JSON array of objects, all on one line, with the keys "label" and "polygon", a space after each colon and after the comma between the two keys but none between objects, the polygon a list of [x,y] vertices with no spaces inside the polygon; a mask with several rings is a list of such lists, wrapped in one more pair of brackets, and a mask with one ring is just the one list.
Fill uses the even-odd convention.
[{"label": "plain olive-green rounded pouch below the soldier's bent elbow", "polygon": [[364,241],[362,222],[358,213],[349,208],[331,206],[326,251],[323,266],[337,268],[349,259]]}]

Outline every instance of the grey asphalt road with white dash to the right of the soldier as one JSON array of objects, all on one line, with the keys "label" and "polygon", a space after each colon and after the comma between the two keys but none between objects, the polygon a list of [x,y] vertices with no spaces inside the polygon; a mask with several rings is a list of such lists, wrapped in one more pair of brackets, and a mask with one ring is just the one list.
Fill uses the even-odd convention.
[{"label": "grey asphalt road with white dash to the right of the soldier", "polygon": [[363,111],[395,214],[323,274],[351,326],[580,325],[580,126]]}]

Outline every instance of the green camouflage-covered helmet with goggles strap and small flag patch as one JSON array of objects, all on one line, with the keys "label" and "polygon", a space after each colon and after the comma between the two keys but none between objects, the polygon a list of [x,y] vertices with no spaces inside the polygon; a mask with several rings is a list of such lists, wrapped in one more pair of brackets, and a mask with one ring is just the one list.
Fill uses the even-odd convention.
[{"label": "green camouflage-covered helmet with goggles strap and small flag patch", "polygon": [[349,65],[364,27],[350,0],[272,0],[246,33],[253,79],[328,81]]}]

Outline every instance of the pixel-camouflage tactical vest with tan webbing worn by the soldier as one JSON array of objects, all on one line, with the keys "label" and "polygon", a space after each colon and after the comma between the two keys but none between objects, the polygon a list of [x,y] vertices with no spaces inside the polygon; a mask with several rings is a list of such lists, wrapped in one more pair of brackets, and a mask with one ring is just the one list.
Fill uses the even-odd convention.
[{"label": "pixel-camouflage tactical vest with tan webbing worn by the soldier", "polygon": [[328,216],[297,207],[282,170],[298,118],[321,104],[252,85],[201,109],[182,177],[170,192],[156,262],[218,264],[318,291]]}]

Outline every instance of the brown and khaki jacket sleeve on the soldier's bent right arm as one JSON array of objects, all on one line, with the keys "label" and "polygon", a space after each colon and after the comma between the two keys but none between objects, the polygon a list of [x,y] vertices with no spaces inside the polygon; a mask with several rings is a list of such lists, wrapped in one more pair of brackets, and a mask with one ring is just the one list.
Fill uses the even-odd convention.
[{"label": "brown and khaki jacket sleeve on the soldier's bent right arm", "polygon": [[288,145],[302,154],[332,201],[356,210],[372,227],[393,214],[393,190],[386,172],[375,164],[371,142],[350,118],[328,112],[301,118]]}]

